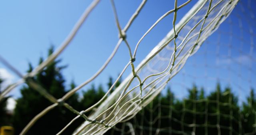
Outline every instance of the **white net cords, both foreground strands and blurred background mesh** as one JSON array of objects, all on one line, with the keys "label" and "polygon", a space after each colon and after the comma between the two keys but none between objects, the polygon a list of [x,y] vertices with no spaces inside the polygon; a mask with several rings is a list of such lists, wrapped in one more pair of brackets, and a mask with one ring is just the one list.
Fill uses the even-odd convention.
[{"label": "white net cords, both foreground strands and blurred background mesh", "polygon": [[[40,66],[38,66],[36,69],[34,69],[31,73],[28,73],[27,75],[22,75],[21,73],[18,72],[14,67],[12,67],[8,62],[6,62],[3,58],[0,60],[8,66],[10,69],[12,69],[17,75],[19,75],[22,79],[18,81],[17,83],[14,83],[7,87],[0,95],[0,98],[5,96],[9,91],[11,91],[14,87],[17,85],[26,82],[28,85],[36,89],[40,94],[44,95],[46,99],[51,101],[53,104],[44,109],[41,113],[36,115],[34,119],[28,123],[28,125],[24,128],[21,134],[25,134],[31,127],[32,125],[40,119],[43,115],[45,115],[48,111],[53,109],[54,107],[58,105],[63,105],[70,111],[74,112],[77,114],[77,117],[75,117],[66,127],[62,129],[58,134],[62,133],[65,131],[65,129],[72,124],[73,121],[78,119],[79,117],[83,117],[85,119],[85,122],[78,127],[78,129],[74,132],[74,134],[103,134],[112,127],[114,127],[117,123],[121,121],[128,121],[132,119],[140,110],[142,110],[146,105],[148,105],[161,91],[166,87],[167,83],[172,79],[178,72],[184,67],[184,64],[187,62],[188,58],[190,56],[193,56],[194,54],[200,55],[200,53],[196,53],[199,48],[202,46],[202,44],[208,44],[208,42],[205,42],[205,40],[213,33],[215,32],[220,24],[229,16],[229,14],[232,12],[233,8],[237,5],[238,0],[199,0],[193,8],[179,21],[176,22],[177,16],[179,16],[179,11],[182,10],[191,0],[188,0],[187,2],[184,2],[181,5],[177,4],[177,0],[174,1],[174,8],[163,16],[161,16],[152,26],[151,28],[148,29],[148,31],[142,36],[142,38],[138,41],[138,44],[136,46],[130,46],[128,44],[128,40],[126,39],[126,32],[130,28],[132,22],[134,19],[138,16],[140,13],[140,10],[143,10],[144,5],[146,4],[146,0],[142,0],[142,3],[136,10],[136,12],[133,14],[133,16],[130,18],[126,26],[122,29],[120,27],[119,21],[118,21],[118,14],[116,12],[116,8],[114,5],[114,1],[112,0],[112,7],[114,10],[114,15],[116,18],[116,24],[118,27],[119,31],[119,40],[118,43],[116,44],[116,47],[114,48],[112,54],[108,58],[108,60],[105,62],[105,64],[96,72],[90,79],[86,80],[84,83],[79,85],[78,87],[72,89],[69,91],[66,95],[64,95],[60,99],[56,99],[52,95],[50,95],[43,87],[41,87],[39,84],[34,82],[31,77],[36,75],[38,72],[42,71],[42,69],[50,64],[63,50],[66,48],[66,46],[70,43],[72,38],[75,36],[77,30],[80,28],[81,24],[84,22],[84,20],[87,18],[88,14],[94,9],[94,7],[98,4],[100,0],[94,0],[92,4],[85,10],[85,12],[82,14],[80,20],[78,20],[76,26],[74,26],[74,29],[70,32],[70,35],[66,38],[66,40],[62,43],[60,46],[60,49],[57,50],[54,54],[52,54],[46,61],[44,61]],[[241,3],[241,2],[240,2]],[[248,9],[250,10],[250,8]],[[244,9],[242,14],[244,14]],[[249,11],[251,13],[251,11]],[[167,34],[167,36],[158,44],[156,47],[148,54],[148,56],[135,68],[135,65],[133,62],[136,60],[136,52],[137,49],[140,45],[140,42],[144,39],[144,37],[156,26],[163,18],[166,16],[173,15],[173,22],[172,26],[173,29]],[[250,14],[246,14],[246,16],[249,16],[249,19],[252,19],[252,21],[255,22],[254,17]],[[241,17],[241,16],[240,16]],[[239,18],[239,17],[238,17]],[[241,18],[240,18],[241,19]],[[232,22],[232,21],[231,21]],[[248,20],[250,23],[250,20]],[[232,24],[232,25],[231,25]],[[233,23],[231,23],[231,27],[233,26]],[[238,23],[239,24],[239,23]],[[171,25],[171,24],[170,24]],[[249,29],[244,28],[244,25],[238,25],[234,24],[234,27],[240,28],[240,30],[249,30],[249,32],[242,32],[242,34],[250,34],[250,37],[253,37],[253,32],[251,26],[255,24],[251,24]],[[231,33],[231,31],[229,31]],[[224,32],[220,32],[222,34]],[[230,34],[229,34],[230,35]],[[224,41],[230,41],[232,42],[233,39],[233,34],[230,35],[231,40],[226,40]],[[237,35],[238,37],[241,37],[241,35]],[[243,36],[242,36],[243,37]],[[231,56],[230,51],[233,49],[233,47],[228,44],[228,55],[225,55],[226,58],[222,59],[222,55],[220,55],[223,51],[222,43],[224,44],[225,42],[222,42],[223,40],[221,39],[222,37],[219,36],[218,42],[210,42],[211,44],[214,43],[216,44],[215,46],[217,47],[216,49],[216,60],[217,64],[216,66],[218,67],[217,69],[220,69],[222,65],[220,62],[223,60],[224,62],[237,62],[237,60],[232,59],[234,57]],[[241,39],[242,43],[248,42],[249,40],[245,40],[244,37]],[[92,107],[84,110],[84,111],[77,111],[74,108],[72,108],[70,105],[65,103],[65,100],[68,99],[72,94],[74,94],[76,91],[81,89],[84,85],[88,84],[92,80],[94,80],[103,70],[104,68],[108,65],[108,63],[112,60],[114,57],[116,51],[118,50],[121,42],[124,42],[128,48],[128,52],[130,54],[130,60],[127,60],[127,65],[124,67],[123,71],[120,73],[118,78],[116,79],[115,83],[122,77],[124,71],[128,70],[128,66],[131,66],[131,74],[121,83],[121,85],[114,90],[111,95],[108,95],[110,90],[114,87],[115,83],[110,87],[109,91],[106,93],[104,97],[98,103],[93,105]],[[242,44],[241,43],[241,44]],[[250,40],[250,45],[251,50],[253,50],[253,38]],[[206,45],[203,45],[206,46]],[[208,46],[213,46],[213,45],[208,45]],[[243,45],[241,45],[243,46]],[[209,48],[210,48],[209,47]],[[134,48],[134,52],[132,53],[131,49]],[[220,49],[221,48],[221,49]],[[207,50],[207,49],[206,49]],[[222,50],[222,51],[220,51]],[[250,66],[247,66],[249,69],[249,74],[255,73],[252,66],[253,62],[255,62],[255,59],[253,58],[253,51],[251,52],[243,52],[242,49],[238,49],[240,51],[240,56],[248,57],[250,58]],[[246,55],[242,55],[246,54]],[[202,55],[202,54],[201,54]],[[208,52],[203,53],[203,56],[209,55]],[[224,57],[225,57],[224,56]],[[207,57],[205,58],[205,65],[202,67],[210,67],[213,66],[212,64],[209,64],[209,61],[207,60]],[[188,60],[189,61],[189,60]],[[197,64],[198,62],[195,62],[193,64]],[[199,62],[199,64],[202,64],[202,62]],[[242,65],[239,63],[238,64]],[[189,65],[189,63],[187,64]],[[199,66],[193,66],[196,69],[198,69]],[[201,66],[200,66],[201,67]],[[206,69],[207,69],[206,68]],[[243,78],[242,73],[236,74],[236,71],[231,72],[232,69],[231,66],[224,67],[225,69],[228,69],[230,71],[229,73],[233,75],[236,75],[240,77],[241,79]],[[240,69],[242,70],[242,69]],[[198,78],[198,74],[190,74],[193,72],[188,72],[185,76],[188,75],[188,77],[191,77],[196,79]],[[182,73],[180,73],[182,74]],[[254,74],[255,75],[255,74]],[[204,74],[203,77],[209,77],[209,75],[206,73]],[[219,80],[220,78],[214,76],[212,77],[213,79]],[[228,78],[232,78],[231,76]],[[249,81],[247,79],[246,82],[249,83],[249,86],[252,86],[252,77],[245,76],[244,78],[250,78]],[[207,80],[207,79],[206,79]],[[227,80],[228,83],[231,83],[232,80]],[[180,83],[180,82],[179,82]],[[187,84],[186,83],[180,83],[183,87],[185,87]],[[238,86],[241,86],[241,84],[238,84]],[[187,86],[186,86],[187,87]],[[183,95],[186,95],[185,93]],[[229,94],[231,97],[231,94]],[[168,133],[182,133],[182,134],[190,134],[187,133],[186,130],[188,128],[192,128],[192,133],[196,133],[196,129],[203,127],[207,130],[205,130],[205,133],[208,133],[208,127],[213,127],[218,129],[218,134],[220,134],[220,129],[228,129],[230,130],[230,134],[232,133],[242,133],[241,129],[241,120],[240,119],[234,119],[234,114],[232,109],[230,109],[230,114],[222,114],[220,111],[220,106],[227,106],[232,108],[232,99],[230,99],[230,102],[228,103],[221,103],[220,100],[220,94],[217,94],[216,99],[210,101],[210,100],[205,100],[205,99],[188,99],[188,101],[192,101],[193,109],[186,109],[186,102],[182,105],[182,109],[180,110],[175,110],[172,109],[172,102],[169,102],[167,105],[162,105],[161,100],[159,98],[158,103],[156,104],[156,108],[158,108],[158,117],[153,118],[153,115],[150,115],[150,120],[148,123],[149,125],[154,125],[154,123],[158,123],[158,128],[153,128],[153,126],[144,126],[144,119],[140,120],[140,125],[131,125],[130,123],[124,123],[124,126],[129,127],[129,133],[134,134],[136,129],[140,129],[141,133],[146,131],[146,133],[149,134],[157,134],[162,131],[167,131]],[[197,103],[204,103],[205,108],[201,110],[197,110],[196,104]],[[215,103],[216,107],[218,108],[218,112],[209,112],[208,106],[210,103]],[[154,103],[150,104],[150,107],[146,107],[146,109],[150,109],[150,112],[154,112],[155,109],[153,109]],[[155,106],[155,105],[154,105]],[[162,110],[169,110],[168,115],[162,114]],[[86,116],[84,115],[85,112],[92,111],[92,115]],[[170,113],[171,112],[171,113]],[[173,113],[181,113],[180,119],[172,119],[172,112]],[[202,117],[216,117],[217,123],[211,124],[208,123],[207,119],[205,119],[205,123],[197,123],[196,118],[193,119],[192,123],[188,123],[186,121],[186,115],[190,114],[191,117],[196,117],[197,115],[202,115]],[[226,116],[230,119],[230,127],[224,127],[220,123],[220,119],[222,116]],[[200,116],[201,117],[201,116]],[[136,119],[136,117],[134,118]],[[171,122],[176,122],[180,124],[180,130],[172,130],[172,126],[177,125],[177,124],[172,124],[169,125],[169,127],[166,128],[160,128],[161,125],[161,119],[169,119]],[[159,122],[160,121],[160,122]],[[232,127],[232,122],[233,121],[238,121],[238,129],[241,129],[239,131],[234,130]],[[118,128],[114,128],[116,130],[119,130]],[[125,128],[119,130],[122,131],[122,133],[125,133],[124,131]],[[133,129],[133,130],[132,130]],[[169,130],[170,129],[170,130]]]}]

